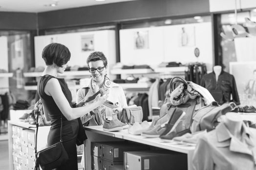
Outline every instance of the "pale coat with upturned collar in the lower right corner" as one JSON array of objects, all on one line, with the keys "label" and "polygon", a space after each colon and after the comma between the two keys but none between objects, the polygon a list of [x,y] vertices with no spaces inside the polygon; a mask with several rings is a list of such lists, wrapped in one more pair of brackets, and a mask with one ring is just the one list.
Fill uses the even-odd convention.
[{"label": "pale coat with upturned collar in the lower right corner", "polygon": [[241,130],[244,142],[233,136],[225,124],[199,138],[192,163],[195,170],[255,170],[256,129],[245,124]]}]

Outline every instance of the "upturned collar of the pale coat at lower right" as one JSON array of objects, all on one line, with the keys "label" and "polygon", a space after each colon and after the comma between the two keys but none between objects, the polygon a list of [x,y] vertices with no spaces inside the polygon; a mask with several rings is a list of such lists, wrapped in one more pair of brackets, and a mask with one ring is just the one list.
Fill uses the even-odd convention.
[{"label": "upturned collar of the pale coat at lower right", "polygon": [[251,133],[249,128],[246,127],[244,123],[242,124],[242,131],[243,131],[242,136],[244,136],[245,142],[241,142],[239,139],[233,136],[230,133],[230,131],[227,129],[225,124],[220,123],[216,127],[216,135],[217,135],[217,141],[218,141],[217,146],[218,147],[229,146],[230,151],[253,155],[252,148],[255,146],[255,144],[251,140],[253,138],[253,134]]}]

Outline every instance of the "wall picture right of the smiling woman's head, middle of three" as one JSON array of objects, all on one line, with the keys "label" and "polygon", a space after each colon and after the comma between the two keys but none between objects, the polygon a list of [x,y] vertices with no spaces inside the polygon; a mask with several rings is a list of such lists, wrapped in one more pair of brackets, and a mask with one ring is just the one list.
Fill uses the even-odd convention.
[{"label": "wall picture right of the smiling woman's head, middle of three", "polygon": [[149,31],[134,32],[134,49],[149,48]]}]

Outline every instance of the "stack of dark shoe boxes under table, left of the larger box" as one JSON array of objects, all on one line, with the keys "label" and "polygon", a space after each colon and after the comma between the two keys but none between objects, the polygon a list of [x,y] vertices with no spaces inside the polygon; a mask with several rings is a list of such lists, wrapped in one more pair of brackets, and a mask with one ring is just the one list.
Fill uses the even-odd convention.
[{"label": "stack of dark shoe boxes under table, left of the larger box", "polygon": [[[124,169],[124,152],[149,150],[149,146],[121,141],[121,142],[92,142],[91,165],[92,170]],[[116,169],[119,167],[119,169]],[[122,169],[120,169],[122,167]]]}]

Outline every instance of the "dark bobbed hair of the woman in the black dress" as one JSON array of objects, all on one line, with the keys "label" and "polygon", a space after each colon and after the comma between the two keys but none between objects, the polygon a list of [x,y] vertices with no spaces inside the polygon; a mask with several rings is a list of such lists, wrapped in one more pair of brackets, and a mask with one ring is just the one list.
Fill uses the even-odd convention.
[{"label": "dark bobbed hair of the woman in the black dress", "polygon": [[47,66],[55,63],[62,67],[70,59],[70,51],[66,46],[59,43],[51,43],[43,48],[42,58]]}]

